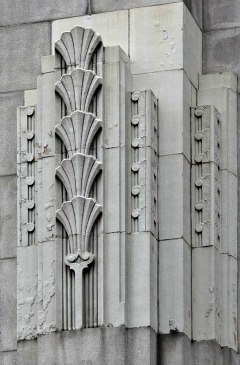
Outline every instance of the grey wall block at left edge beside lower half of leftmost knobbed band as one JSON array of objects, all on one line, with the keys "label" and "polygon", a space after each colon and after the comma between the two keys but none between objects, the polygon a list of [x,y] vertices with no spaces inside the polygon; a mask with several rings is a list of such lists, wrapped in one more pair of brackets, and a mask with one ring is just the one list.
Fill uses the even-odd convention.
[{"label": "grey wall block at left edge beside lower half of leftmost knobbed band", "polygon": [[17,176],[0,176],[0,259],[17,254]]}]

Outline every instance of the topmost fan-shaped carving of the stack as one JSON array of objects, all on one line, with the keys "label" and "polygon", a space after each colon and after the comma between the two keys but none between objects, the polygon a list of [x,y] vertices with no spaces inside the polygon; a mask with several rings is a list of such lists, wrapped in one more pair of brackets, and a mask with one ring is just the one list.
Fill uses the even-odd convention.
[{"label": "topmost fan-shaped carving of the stack", "polygon": [[102,38],[92,29],[74,27],[71,32],[62,34],[61,39],[55,43],[55,48],[64,58],[67,67],[89,70],[92,57],[101,44]]}]

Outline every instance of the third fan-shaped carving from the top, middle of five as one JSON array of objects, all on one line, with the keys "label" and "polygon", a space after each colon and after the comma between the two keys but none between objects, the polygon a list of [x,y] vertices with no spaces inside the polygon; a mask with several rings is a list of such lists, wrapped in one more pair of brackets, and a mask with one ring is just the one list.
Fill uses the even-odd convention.
[{"label": "third fan-shaped carving from the top, middle of five", "polygon": [[92,113],[79,110],[69,117],[64,117],[56,126],[56,133],[63,141],[69,156],[73,153],[89,154],[92,141],[100,128],[102,121]]}]

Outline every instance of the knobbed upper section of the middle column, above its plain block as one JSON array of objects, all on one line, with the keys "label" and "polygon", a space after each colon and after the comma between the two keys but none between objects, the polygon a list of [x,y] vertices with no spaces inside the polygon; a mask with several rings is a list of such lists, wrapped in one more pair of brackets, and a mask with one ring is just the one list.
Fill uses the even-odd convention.
[{"label": "knobbed upper section of the middle column, above its plain block", "polygon": [[132,94],[131,232],[157,237],[157,99],[150,90]]}]

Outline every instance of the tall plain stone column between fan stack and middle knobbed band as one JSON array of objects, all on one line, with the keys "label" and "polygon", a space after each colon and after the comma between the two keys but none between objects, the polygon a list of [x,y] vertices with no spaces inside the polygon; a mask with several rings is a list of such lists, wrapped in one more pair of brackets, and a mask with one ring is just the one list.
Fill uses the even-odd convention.
[{"label": "tall plain stone column between fan stack and middle knobbed band", "polygon": [[123,50],[105,48],[104,61],[104,324],[125,324],[126,301],[126,122],[132,79]]}]

